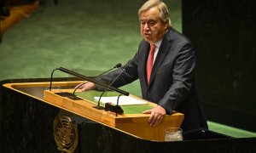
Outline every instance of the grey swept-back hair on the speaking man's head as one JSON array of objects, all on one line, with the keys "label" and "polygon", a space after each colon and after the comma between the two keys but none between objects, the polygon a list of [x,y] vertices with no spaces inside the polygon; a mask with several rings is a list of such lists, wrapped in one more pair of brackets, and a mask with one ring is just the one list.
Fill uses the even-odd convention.
[{"label": "grey swept-back hair on the speaking man's head", "polygon": [[172,22],[169,17],[169,10],[166,3],[163,3],[160,0],[148,0],[148,2],[144,3],[143,6],[138,10],[138,15],[140,16],[143,11],[147,11],[148,9],[154,7],[157,7],[160,10],[160,20],[163,22],[168,21],[169,27],[171,27]]}]

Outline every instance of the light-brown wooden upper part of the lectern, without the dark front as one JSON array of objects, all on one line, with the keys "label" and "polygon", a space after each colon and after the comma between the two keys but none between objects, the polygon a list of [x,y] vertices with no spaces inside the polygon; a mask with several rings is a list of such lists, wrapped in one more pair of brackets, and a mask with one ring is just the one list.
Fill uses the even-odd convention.
[{"label": "light-brown wooden upper part of the lectern, without the dark front", "polygon": [[[62,110],[72,112],[73,114],[83,116],[94,122],[99,122],[105,126],[112,127],[123,133],[130,134],[134,137],[140,139],[148,139],[154,141],[164,141],[164,130],[166,127],[180,127],[183,122],[183,114],[174,113],[172,115],[166,115],[163,122],[157,127],[150,127],[148,124],[149,114],[143,114],[142,111],[137,113],[125,113],[115,116],[113,113],[109,113],[104,110],[98,110],[94,108],[96,106],[96,101],[90,98],[90,96],[96,96],[91,93],[89,98],[86,99],[81,97],[79,100],[69,99],[68,97],[62,97],[55,93],[68,92],[73,93],[73,88],[80,82],[53,82],[53,87],[58,87],[59,89],[44,90],[45,103],[49,105],[55,105]],[[27,83],[9,83],[5,84],[5,87],[18,90],[19,88],[39,88],[49,87],[49,82],[27,82]],[[60,89],[61,88],[61,89]],[[79,90],[77,93],[79,94]],[[76,93],[76,94],[77,94]],[[86,92],[85,92],[86,93]],[[133,95],[131,95],[133,96]],[[137,98],[136,96],[133,96]],[[137,98],[139,99],[139,98]],[[153,108],[154,103],[148,102],[146,108]],[[125,107],[125,106],[122,106]],[[136,107],[142,107],[142,105],[134,105]]]}]

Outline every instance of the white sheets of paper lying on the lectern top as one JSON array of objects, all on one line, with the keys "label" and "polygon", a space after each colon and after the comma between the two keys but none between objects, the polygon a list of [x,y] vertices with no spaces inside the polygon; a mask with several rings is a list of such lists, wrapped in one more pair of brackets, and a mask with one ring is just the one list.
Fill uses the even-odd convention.
[{"label": "white sheets of paper lying on the lectern top", "polygon": [[[99,100],[100,97],[95,97],[94,99]],[[102,97],[101,102],[106,103],[112,103],[113,105],[116,105],[118,96],[113,97]],[[145,105],[147,104],[146,101],[143,101],[141,99],[135,99],[130,96],[120,96],[119,97],[119,105]]]}]

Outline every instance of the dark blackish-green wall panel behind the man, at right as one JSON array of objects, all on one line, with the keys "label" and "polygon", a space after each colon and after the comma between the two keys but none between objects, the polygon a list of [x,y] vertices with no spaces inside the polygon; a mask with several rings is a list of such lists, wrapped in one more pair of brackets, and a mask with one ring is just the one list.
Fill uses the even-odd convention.
[{"label": "dark blackish-green wall panel behind the man, at right", "polygon": [[208,119],[256,132],[256,2],[183,0]]}]

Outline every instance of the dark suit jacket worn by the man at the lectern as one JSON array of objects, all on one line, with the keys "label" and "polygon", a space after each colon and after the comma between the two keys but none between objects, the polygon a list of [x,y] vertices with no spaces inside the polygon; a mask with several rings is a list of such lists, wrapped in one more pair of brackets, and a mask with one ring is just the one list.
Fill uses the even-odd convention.
[{"label": "dark suit jacket worn by the man at the lectern", "polygon": [[[184,131],[207,128],[206,117],[195,90],[195,52],[189,40],[169,28],[154,61],[150,82],[147,83],[145,69],[149,48],[149,43],[143,40],[137,54],[124,66],[125,73],[113,82],[113,86],[119,88],[138,78],[143,99],[161,105],[169,114],[172,111],[184,114]],[[108,77],[111,76],[113,80],[120,71],[113,71]]]}]

